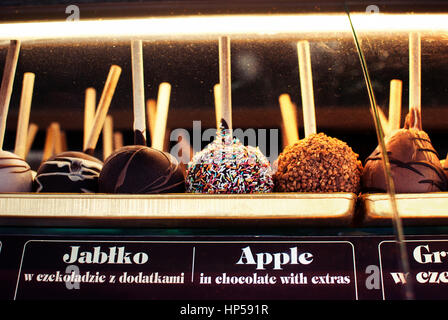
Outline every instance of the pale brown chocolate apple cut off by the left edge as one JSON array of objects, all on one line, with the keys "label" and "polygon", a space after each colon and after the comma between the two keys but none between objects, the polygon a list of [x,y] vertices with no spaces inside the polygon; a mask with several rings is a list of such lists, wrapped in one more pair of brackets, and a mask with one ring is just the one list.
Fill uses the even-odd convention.
[{"label": "pale brown chocolate apple cut off by the left edge", "polygon": [[31,192],[33,176],[25,160],[0,150],[0,192]]}]

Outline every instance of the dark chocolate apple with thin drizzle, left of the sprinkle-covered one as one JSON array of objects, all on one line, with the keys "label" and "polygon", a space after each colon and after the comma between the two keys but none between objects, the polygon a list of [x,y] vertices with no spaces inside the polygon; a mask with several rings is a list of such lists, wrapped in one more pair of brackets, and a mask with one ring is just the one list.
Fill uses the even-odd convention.
[{"label": "dark chocolate apple with thin drizzle, left of the sprinkle-covered one", "polygon": [[125,146],[104,162],[101,193],[183,193],[185,174],[169,153],[141,145]]}]

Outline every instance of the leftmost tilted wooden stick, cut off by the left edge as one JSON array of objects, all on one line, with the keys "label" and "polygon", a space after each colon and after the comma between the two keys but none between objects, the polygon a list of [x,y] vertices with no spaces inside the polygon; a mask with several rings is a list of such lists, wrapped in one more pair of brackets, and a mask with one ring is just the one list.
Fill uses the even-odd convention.
[{"label": "leftmost tilted wooden stick, cut off by the left edge", "polygon": [[8,116],[9,102],[11,101],[19,51],[20,41],[11,40],[8,53],[6,54],[5,69],[0,86],[0,150],[3,149],[3,142],[5,140],[6,118]]}]

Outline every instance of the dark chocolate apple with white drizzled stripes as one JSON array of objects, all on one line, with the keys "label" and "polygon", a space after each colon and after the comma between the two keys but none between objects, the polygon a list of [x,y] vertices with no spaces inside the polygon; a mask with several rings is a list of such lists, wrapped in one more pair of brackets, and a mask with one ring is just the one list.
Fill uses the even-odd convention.
[{"label": "dark chocolate apple with white drizzled stripes", "polygon": [[68,151],[42,163],[35,178],[36,192],[98,192],[103,163],[83,152]]}]

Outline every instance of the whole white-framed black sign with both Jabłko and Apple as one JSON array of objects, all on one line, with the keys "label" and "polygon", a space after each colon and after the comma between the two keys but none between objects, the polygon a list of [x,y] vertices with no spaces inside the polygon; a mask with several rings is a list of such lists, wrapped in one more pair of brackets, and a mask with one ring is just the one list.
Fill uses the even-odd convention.
[{"label": "whole white-framed black sign with both Jab\u0142ko and Apple", "polygon": [[357,299],[348,241],[30,240],[14,299]]}]

